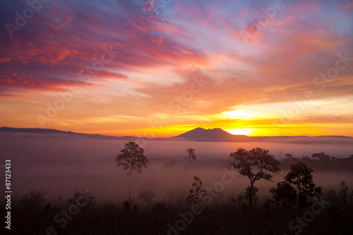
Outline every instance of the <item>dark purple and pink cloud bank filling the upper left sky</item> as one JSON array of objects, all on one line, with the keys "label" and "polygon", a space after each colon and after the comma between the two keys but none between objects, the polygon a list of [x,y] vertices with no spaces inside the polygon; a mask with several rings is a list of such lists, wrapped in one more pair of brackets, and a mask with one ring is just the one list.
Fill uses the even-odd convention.
[{"label": "dark purple and pink cloud bank filling the upper left sky", "polygon": [[[8,17],[2,23],[14,21],[13,9],[24,7],[16,4],[3,10]],[[178,33],[182,29],[177,25],[151,17],[130,1],[119,1],[112,8],[51,2],[14,32],[12,39],[1,40],[1,85],[56,90],[72,83],[84,84],[77,71],[92,67],[109,47],[119,55],[104,65],[97,80],[106,76],[126,79],[128,76],[121,74],[136,67],[205,59],[202,52],[174,40]]]}]

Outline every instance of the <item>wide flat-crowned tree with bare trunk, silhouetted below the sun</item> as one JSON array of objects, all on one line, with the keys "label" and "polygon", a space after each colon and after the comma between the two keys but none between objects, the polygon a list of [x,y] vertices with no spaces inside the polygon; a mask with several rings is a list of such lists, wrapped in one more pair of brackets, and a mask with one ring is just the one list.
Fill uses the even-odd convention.
[{"label": "wide flat-crowned tree with bare trunk, silhouetted below the sun", "polygon": [[273,176],[266,171],[273,173],[278,173],[280,171],[280,162],[278,162],[278,160],[268,152],[268,150],[263,150],[260,147],[253,148],[249,151],[239,147],[237,152],[232,152],[230,154],[231,158],[237,160],[237,162],[232,163],[232,165],[238,169],[238,173],[242,176],[247,176],[250,179],[250,207],[252,206],[253,202],[253,184],[260,179],[265,179],[266,181],[273,182],[271,180]]}]

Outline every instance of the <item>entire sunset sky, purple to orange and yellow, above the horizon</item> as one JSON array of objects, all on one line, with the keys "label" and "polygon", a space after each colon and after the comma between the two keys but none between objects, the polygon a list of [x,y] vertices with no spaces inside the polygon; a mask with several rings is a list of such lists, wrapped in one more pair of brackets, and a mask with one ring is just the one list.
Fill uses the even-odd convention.
[{"label": "entire sunset sky, purple to orange and yellow, above the horizon", "polygon": [[0,4],[0,126],[353,136],[353,1]]}]

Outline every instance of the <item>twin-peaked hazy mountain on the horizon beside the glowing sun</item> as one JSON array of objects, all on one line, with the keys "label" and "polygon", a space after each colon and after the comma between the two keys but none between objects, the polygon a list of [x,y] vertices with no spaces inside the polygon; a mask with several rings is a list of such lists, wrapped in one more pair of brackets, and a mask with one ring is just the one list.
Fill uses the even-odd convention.
[{"label": "twin-peaked hazy mountain on the horizon beside the glowing sun", "polygon": [[246,135],[232,135],[221,128],[204,129],[201,127],[187,131],[181,135],[174,136],[173,138],[184,138],[194,141],[236,141],[245,140],[249,138]]}]

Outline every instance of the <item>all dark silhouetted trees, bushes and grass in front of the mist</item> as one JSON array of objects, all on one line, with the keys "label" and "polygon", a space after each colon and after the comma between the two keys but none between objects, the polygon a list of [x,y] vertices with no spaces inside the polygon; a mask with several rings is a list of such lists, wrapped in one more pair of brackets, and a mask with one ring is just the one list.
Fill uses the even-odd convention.
[{"label": "all dark silhouetted trees, bushes and grass in front of the mist", "polygon": [[[99,204],[95,201],[95,195],[75,191],[72,198],[63,200],[63,196],[59,195],[59,203],[51,205],[44,198],[43,192],[30,191],[20,197],[14,195],[11,217],[14,222],[20,223],[16,223],[16,226],[13,224],[11,234],[48,234],[49,227],[57,234],[87,235],[353,234],[353,191],[349,195],[349,187],[345,181],[341,181],[338,193],[333,188],[323,192],[313,182],[310,164],[304,163],[321,164],[328,159],[313,157],[300,161],[289,155],[282,161],[291,162],[285,180],[270,188],[270,199],[258,198],[259,189],[254,183],[260,179],[272,182],[272,174],[280,171],[280,162],[268,150],[256,148],[246,151],[239,148],[231,154],[236,160],[232,165],[238,169],[239,174],[250,179],[251,185],[244,188],[244,192],[235,192],[234,196],[225,200],[205,203],[207,200],[203,198],[210,194],[202,188],[203,183],[198,176],[193,178],[189,195],[186,191],[180,198],[160,200],[155,191],[145,188],[138,195],[145,202],[140,204],[131,200],[131,194],[124,202]],[[352,156],[351,158],[353,159]],[[339,159],[330,157],[329,161],[335,162]],[[117,166],[128,169],[130,176],[133,170],[140,172],[147,162],[143,149],[133,142],[126,143],[124,150],[116,157]],[[174,160],[169,163],[172,166],[176,164]],[[318,207],[315,203],[322,205]],[[78,205],[76,207],[79,210],[73,210],[75,205]],[[197,214],[191,213],[192,207],[199,209]],[[251,210],[248,210],[249,207]],[[313,208],[317,213],[312,214],[313,218],[305,226],[290,226],[298,218],[307,221],[305,215],[310,215],[308,213]],[[0,210],[3,213],[5,211],[4,207]],[[303,213],[298,215],[299,210]],[[68,217],[62,216],[66,211],[71,214],[65,214]],[[58,215],[61,215],[61,219],[67,218],[65,226],[55,222],[54,218]],[[180,225],[183,223],[185,226]]]}]

